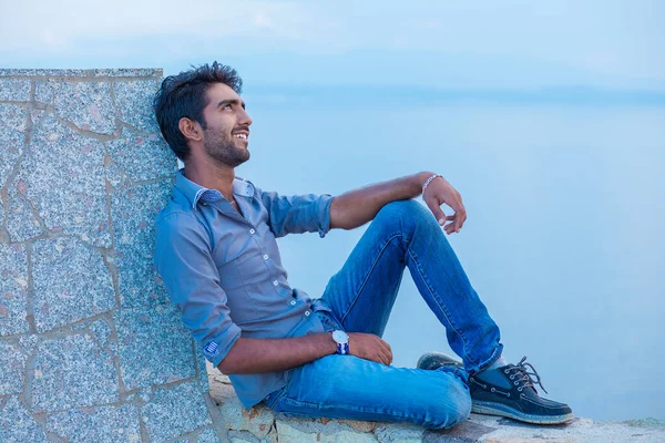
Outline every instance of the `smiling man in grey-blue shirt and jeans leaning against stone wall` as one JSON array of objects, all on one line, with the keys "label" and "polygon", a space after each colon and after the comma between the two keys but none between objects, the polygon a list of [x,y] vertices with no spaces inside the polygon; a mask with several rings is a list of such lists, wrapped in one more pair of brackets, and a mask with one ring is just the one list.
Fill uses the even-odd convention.
[{"label": "smiling man in grey-blue shirt and jeans leaning against stone wall", "polygon": [[[446,239],[467,215],[443,177],[422,172],[335,197],[262,190],[235,176],[250,157],[241,91],[237,73],[215,62],[166,78],[155,95],[162,134],[185,164],[156,220],[155,267],[245,408],[431,429],[470,410],[543,424],[573,418],[538,394],[531,364],[501,357],[499,328]],[[412,199],[420,195],[429,210]],[[289,286],[276,238],[370,220],[320,298]],[[381,336],[407,267],[461,362],[430,354],[417,369],[390,365]]]}]

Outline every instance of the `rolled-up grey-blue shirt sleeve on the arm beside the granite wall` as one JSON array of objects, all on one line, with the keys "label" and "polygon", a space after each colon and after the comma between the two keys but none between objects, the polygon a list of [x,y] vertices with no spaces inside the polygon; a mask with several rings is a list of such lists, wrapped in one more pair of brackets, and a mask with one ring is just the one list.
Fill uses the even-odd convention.
[{"label": "rolled-up grey-blue shirt sleeve on the arm beside the granite wall", "polygon": [[219,286],[209,237],[191,214],[173,213],[156,223],[155,268],[183,323],[215,367],[241,337]]}]

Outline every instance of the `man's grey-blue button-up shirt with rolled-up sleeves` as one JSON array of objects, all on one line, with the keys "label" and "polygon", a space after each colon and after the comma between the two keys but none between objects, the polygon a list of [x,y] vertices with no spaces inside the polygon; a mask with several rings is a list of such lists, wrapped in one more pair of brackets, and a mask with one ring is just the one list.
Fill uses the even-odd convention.
[{"label": "man's grey-blue button-up shirt with rolled-up sleeves", "polygon": [[[330,195],[279,196],[233,182],[242,215],[216,189],[180,171],[156,219],[155,268],[204,356],[215,367],[242,336],[324,332],[313,300],[291,289],[276,238],[330,229]],[[231,375],[245,408],[286,385],[286,372]]]}]

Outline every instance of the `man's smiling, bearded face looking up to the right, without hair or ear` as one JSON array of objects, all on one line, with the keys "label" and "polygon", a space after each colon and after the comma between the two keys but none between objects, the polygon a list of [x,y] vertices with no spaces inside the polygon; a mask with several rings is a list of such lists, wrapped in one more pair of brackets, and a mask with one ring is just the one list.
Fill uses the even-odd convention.
[{"label": "man's smiling, bearded face looking up to the right, without hair or ear", "polygon": [[215,83],[206,92],[208,104],[203,110],[205,153],[217,162],[236,167],[249,159],[249,125],[245,103],[224,83]]}]

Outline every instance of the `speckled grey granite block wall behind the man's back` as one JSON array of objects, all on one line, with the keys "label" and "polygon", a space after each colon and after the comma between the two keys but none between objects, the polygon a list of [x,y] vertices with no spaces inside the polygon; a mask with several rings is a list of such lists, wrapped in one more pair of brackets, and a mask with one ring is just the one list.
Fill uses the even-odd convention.
[{"label": "speckled grey granite block wall behind the man's back", "polygon": [[0,70],[0,442],[217,442],[152,266],[161,70]]}]

